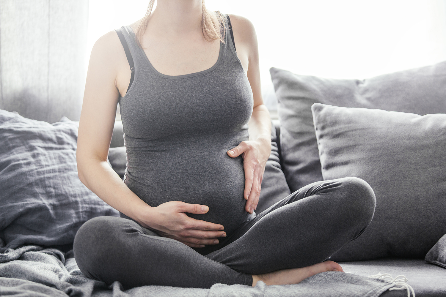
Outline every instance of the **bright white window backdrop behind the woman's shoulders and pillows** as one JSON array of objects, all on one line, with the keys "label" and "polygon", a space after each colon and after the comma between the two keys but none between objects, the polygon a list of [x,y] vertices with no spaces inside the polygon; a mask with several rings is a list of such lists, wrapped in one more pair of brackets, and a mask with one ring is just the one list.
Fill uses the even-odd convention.
[{"label": "bright white window backdrop behind the woman's shoulders and pillows", "polygon": [[[86,55],[100,36],[144,16],[147,4],[90,0]],[[270,67],[363,79],[446,60],[446,0],[206,0],[206,6],[256,27],[270,109]]]}]

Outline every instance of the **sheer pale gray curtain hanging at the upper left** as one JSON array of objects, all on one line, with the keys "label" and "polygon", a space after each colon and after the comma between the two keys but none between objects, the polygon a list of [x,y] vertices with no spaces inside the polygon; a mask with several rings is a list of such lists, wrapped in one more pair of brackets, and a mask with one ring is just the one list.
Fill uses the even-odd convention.
[{"label": "sheer pale gray curtain hanging at the upper left", "polygon": [[78,120],[86,77],[88,0],[0,0],[0,109]]}]

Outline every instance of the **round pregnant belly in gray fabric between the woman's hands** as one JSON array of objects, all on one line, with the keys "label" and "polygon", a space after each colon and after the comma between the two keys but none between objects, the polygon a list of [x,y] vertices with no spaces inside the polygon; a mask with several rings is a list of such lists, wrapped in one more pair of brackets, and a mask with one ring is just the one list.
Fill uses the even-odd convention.
[{"label": "round pregnant belly in gray fabric between the woman's hands", "polygon": [[[175,154],[151,152],[145,159],[140,154],[132,156],[128,150],[125,183],[152,207],[168,201],[207,205],[206,214],[188,216],[222,224],[231,233],[248,220],[249,214],[244,210],[243,159],[231,158],[226,151],[220,146],[212,155],[194,156],[184,150]],[[138,162],[132,162],[132,158]]]}]

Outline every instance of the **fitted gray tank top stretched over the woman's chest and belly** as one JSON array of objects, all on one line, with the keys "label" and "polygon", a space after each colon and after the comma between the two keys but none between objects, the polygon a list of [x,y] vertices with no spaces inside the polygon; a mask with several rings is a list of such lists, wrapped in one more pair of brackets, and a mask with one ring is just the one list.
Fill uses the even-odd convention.
[{"label": "fitted gray tank top stretched over the woman's chest and belly", "polygon": [[211,68],[170,76],[153,68],[132,28],[121,32],[135,63],[132,85],[119,99],[125,184],[152,207],[167,201],[207,205],[208,213],[188,215],[234,231],[250,215],[243,159],[227,151],[248,140],[253,97],[230,34]]}]

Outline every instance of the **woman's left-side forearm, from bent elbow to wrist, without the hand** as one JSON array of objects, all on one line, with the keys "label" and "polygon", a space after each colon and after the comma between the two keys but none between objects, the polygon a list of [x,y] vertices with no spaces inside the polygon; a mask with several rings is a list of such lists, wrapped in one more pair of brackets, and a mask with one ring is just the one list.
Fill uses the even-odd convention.
[{"label": "woman's left-side forearm, from bent elbow to wrist, without the hand", "polygon": [[153,208],[124,184],[107,161],[78,155],[78,175],[82,183],[99,198],[138,222],[144,213],[147,217],[147,212]]}]

